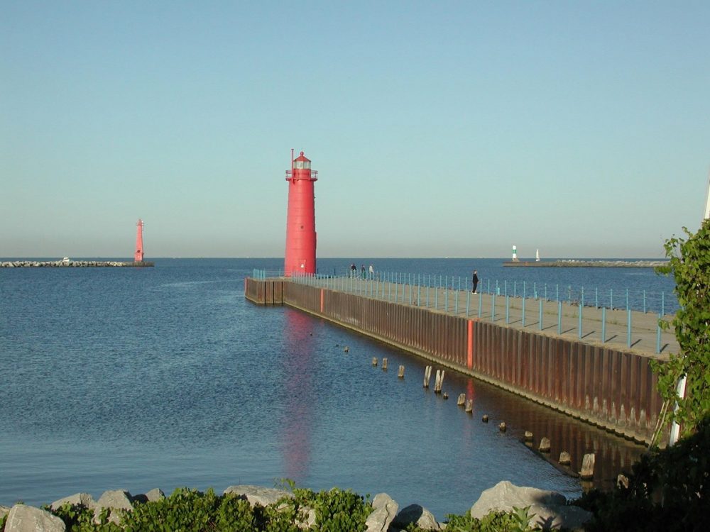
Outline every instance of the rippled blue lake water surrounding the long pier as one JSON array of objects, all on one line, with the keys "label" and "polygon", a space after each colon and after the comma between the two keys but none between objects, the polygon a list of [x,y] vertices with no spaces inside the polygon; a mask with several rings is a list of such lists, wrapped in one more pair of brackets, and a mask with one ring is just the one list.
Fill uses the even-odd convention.
[{"label": "rippled blue lake water surrounding the long pier", "polygon": [[[350,262],[319,266],[344,271]],[[503,270],[501,260],[356,262],[466,277],[476,267],[484,282],[493,274],[522,281],[557,273],[566,284],[672,291],[651,270],[518,273]],[[422,388],[423,360],[300,311],[244,299],[253,268],[281,265],[158,259],[153,268],[0,270],[0,504],[48,504],[80,491],[97,498],[107,489],[221,492],[286,477],[316,490],[387,492],[400,507],[422,504],[441,520],[469,509],[500,480],[581,493],[578,480],[520,443],[526,430],[536,441],[549,436],[552,456],[569,450],[577,469],[581,454],[594,450],[606,480],[643,451],[453,372],[444,401]],[[542,277],[534,282],[551,282]],[[373,357],[387,357],[390,370],[372,367]],[[405,379],[397,378],[400,364]],[[473,416],[457,406],[459,393],[474,399]],[[481,423],[482,414],[490,423]]]}]

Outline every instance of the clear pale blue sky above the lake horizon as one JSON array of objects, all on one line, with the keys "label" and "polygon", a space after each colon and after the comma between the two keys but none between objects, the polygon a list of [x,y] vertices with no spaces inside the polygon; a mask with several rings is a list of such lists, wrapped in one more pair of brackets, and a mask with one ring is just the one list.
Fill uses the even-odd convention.
[{"label": "clear pale blue sky above the lake horizon", "polygon": [[699,227],[707,1],[3,1],[0,256],[658,257]]}]

